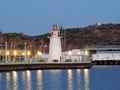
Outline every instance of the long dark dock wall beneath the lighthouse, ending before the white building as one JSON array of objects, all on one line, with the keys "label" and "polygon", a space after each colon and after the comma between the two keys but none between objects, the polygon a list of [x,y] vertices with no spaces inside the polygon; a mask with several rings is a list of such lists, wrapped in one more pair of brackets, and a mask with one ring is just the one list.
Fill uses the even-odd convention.
[{"label": "long dark dock wall beneath the lighthouse, ending before the white building", "polygon": [[91,63],[2,63],[0,71],[36,70],[36,69],[83,69],[90,68]]}]

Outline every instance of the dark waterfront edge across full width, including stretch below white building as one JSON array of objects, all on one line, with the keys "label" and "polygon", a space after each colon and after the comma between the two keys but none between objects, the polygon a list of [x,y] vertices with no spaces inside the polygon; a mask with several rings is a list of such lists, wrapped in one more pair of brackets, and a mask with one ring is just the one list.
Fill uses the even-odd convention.
[{"label": "dark waterfront edge across full width, including stretch below white building", "polygon": [[92,61],[90,63],[77,62],[21,62],[21,63],[0,63],[0,72],[5,71],[20,71],[20,70],[45,70],[45,69],[84,69],[94,66],[111,66],[120,65],[120,60],[115,61]]}]

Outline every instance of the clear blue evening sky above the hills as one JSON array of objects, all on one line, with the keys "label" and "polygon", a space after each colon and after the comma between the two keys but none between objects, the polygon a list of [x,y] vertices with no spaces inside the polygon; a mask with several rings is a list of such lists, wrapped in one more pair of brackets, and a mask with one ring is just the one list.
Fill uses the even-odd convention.
[{"label": "clear blue evening sky above the hills", "polygon": [[120,0],[0,0],[0,31],[35,36],[53,24],[82,28],[120,23]]}]

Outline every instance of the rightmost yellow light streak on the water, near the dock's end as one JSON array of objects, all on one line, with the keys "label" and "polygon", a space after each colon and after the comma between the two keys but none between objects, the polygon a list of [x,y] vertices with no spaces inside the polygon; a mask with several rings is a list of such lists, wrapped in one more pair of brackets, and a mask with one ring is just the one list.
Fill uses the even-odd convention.
[{"label": "rightmost yellow light streak on the water, near the dock's end", "polygon": [[89,90],[89,70],[84,69],[84,88]]}]

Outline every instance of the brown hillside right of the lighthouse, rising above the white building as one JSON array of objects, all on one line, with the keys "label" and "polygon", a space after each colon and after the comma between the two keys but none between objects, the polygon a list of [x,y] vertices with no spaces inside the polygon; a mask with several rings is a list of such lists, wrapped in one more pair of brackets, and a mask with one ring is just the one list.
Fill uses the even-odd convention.
[{"label": "brown hillside right of the lighthouse, rising above the white building", "polygon": [[66,30],[68,49],[86,45],[120,45],[120,24],[101,24]]}]

